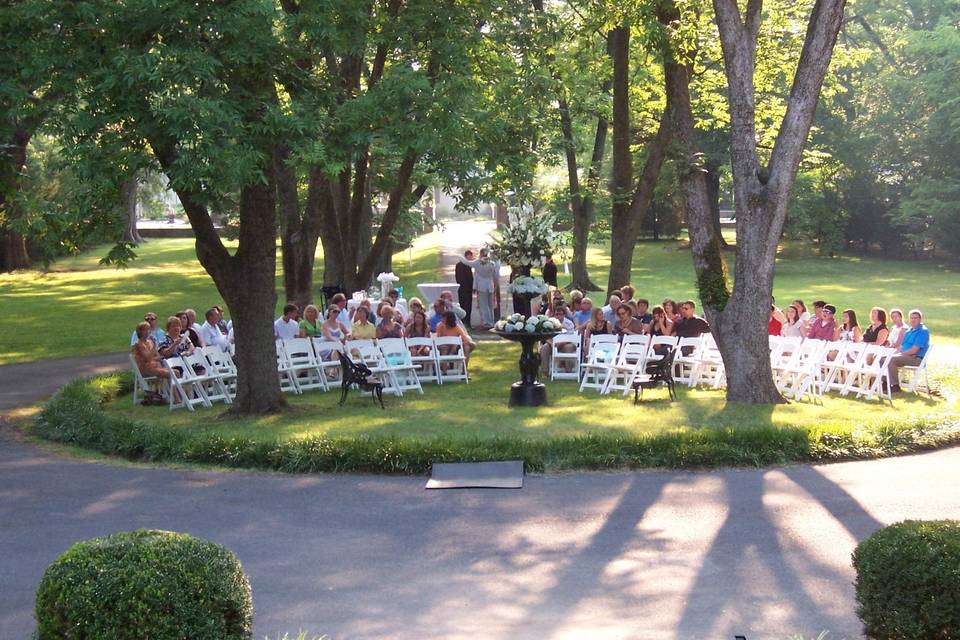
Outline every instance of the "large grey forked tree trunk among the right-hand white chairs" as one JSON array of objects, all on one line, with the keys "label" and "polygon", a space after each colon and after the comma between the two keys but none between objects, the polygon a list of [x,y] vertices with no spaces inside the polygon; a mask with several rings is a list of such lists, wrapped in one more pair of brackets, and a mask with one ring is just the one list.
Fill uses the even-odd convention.
[{"label": "large grey forked tree trunk among the right-hand white chairs", "polygon": [[[816,0],[800,54],[787,111],[768,167],[757,155],[753,75],[761,1],[748,0],[740,15],[736,0],[714,0],[729,84],[731,158],[737,207],[737,262],[728,295],[719,238],[711,221],[706,181],[697,161],[690,108],[689,68],[666,51],[667,102],[686,158],[681,183],[690,227],[697,286],[713,325],[727,377],[727,400],[783,402],[773,383],[767,322],[777,241],[786,219],[790,189],[829,66],[843,17],[844,0]],[[658,6],[664,25],[679,19],[672,0]]]}]

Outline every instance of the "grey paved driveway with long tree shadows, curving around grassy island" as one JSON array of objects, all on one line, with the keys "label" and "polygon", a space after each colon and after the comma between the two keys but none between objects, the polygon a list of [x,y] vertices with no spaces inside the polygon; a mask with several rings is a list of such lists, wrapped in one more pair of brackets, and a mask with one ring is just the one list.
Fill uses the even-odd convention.
[{"label": "grey paved driveway with long tree shadows, curving around grassy island", "polygon": [[[38,372],[47,386],[71,375],[17,366],[0,368],[0,411],[38,393]],[[137,527],[233,549],[257,638],[859,637],[856,541],[903,518],[960,518],[958,468],[949,449],[427,492],[423,478],[84,462],[0,428],[0,637],[29,637],[43,569],[70,544]]]}]

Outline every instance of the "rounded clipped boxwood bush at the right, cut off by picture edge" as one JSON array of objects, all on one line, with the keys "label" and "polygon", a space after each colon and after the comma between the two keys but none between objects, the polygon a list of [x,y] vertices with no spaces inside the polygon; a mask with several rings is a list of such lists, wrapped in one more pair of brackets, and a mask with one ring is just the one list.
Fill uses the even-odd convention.
[{"label": "rounded clipped boxwood bush at the right, cut off by picture edge", "polygon": [[877,640],[960,638],[960,522],[906,520],[853,554],[857,615]]}]

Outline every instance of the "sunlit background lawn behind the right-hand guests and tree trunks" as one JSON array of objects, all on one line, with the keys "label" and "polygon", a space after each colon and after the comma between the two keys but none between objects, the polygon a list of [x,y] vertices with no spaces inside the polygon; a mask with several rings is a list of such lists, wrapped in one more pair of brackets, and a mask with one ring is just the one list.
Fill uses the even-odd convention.
[{"label": "sunlit background lawn behind the right-hand guests and tree trunks", "polygon": [[[727,253],[733,273],[733,252]],[[591,247],[587,255],[590,275],[600,287],[607,285],[610,264],[608,247]],[[658,304],[664,298],[674,300],[696,295],[690,252],[679,242],[640,242],[633,254],[631,284],[637,296]],[[562,273],[559,284],[569,276]],[[826,300],[838,309],[853,309],[861,325],[869,324],[870,309],[875,306],[919,308],[936,343],[960,343],[960,324],[951,318],[960,314],[960,269],[931,262],[884,260],[877,257],[843,256],[823,258],[802,247],[787,244],[777,258],[774,297],[786,307],[791,300],[802,299],[807,306],[814,300]],[[594,292],[594,302],[603,294]]]}]

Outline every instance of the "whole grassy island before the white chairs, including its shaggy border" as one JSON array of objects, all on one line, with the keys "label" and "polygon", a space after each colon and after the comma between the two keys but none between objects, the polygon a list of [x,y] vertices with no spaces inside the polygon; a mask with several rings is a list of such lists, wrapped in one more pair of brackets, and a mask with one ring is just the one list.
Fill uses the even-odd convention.
[{"label": "whole grassy island before the white chairs, including its shaggy border", "polygon": [[519,347],[483,342],[472,382],[385,398],[386,410],[337,390],[288,395],[290,409],[224,416],[224,405],[170,412],[132,406],[130,375],[77,381],[43,409],[35,433],[56,442],[153,462],[289,472],[424,473],[437,461],[522,459],[530,470],[763,466],[893,455],[960,441],[958,376],[938,372],[934,397],[826,397],[780,406],[728,404],[720,391],[653,390],[632,398],[547,382],[550,403],[509,409]]}]

